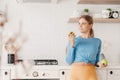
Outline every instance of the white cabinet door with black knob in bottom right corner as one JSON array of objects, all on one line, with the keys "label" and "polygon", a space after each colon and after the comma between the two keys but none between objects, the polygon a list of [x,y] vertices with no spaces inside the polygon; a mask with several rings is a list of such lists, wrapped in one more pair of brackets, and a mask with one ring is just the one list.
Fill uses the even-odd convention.
[{"label": "white cabinet door with black knob in bottom right corner", "polygon": [[109,69],[107,74],[107,80],[120,80],[120,69]]}]

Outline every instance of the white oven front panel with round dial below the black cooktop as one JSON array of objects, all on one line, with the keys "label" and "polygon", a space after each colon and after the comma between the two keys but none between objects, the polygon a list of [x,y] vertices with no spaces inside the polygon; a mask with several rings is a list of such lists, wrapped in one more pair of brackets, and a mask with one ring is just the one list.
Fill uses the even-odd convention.
[{"label": "white oven front panel with round dial below the black cooktop", "polygon": [[[13,71],[12,71],[13,72]],[[31,69],[28,73],[18,76],[20,79],[58,79],[59,69]],[[15,79],[15,72],[12,73],[12,79]]]}]

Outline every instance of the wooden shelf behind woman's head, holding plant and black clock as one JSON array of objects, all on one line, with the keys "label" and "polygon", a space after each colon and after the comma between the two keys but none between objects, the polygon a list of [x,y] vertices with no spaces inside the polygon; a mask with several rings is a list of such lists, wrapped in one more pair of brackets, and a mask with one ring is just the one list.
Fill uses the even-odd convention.
[{"label": "wooden shelf behind woman's head, holding plant and black clock", "polygon": [[[78,18],[70,18],[69,23],[77,23]],[[120,18],[118,19],[108,19],[108,18],[94,18],[93,19],[95,23],[120,23]]]}]

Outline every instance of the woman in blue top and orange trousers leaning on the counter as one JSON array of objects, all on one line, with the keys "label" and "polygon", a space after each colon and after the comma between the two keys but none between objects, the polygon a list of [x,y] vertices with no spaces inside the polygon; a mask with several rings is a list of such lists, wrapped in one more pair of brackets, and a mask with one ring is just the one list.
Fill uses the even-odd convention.
[{"label": "woman in blue top and orange trousers leaning on the counter", "polygon": [[[69,34],[66,61],[71,66],[71,80],[98,80],[95,65],[99,62],[101,40],[94,37],[93,19],[82,15],[79,19],[81,35]],[[99,62],[99,66],[106,65]]]}]

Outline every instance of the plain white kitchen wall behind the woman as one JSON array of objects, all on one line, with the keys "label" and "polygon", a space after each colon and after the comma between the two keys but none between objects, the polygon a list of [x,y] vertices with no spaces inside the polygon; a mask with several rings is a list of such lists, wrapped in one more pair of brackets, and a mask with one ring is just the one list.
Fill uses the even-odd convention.
[{"label": "plain white kitchen wall behind the woman", "polygon": [[[74,0],[61,0],[58,4],[33,3],[17,4],[15,0],[8,3],[9,22],[5,31],[19,30],[19,21],[23,20],[22,30],[28,35],[28,41],[19,52],[24,59],[58,59],[60,65],[65,65],[65,48],[68,42],[67,34],[74,31],[79,35],[77,23],[68,23],[73,11],[89,8],[91,13],[98,13],[105,8],[117,8],[119,5],[78,5]],[[9,29],[8,29],[9,27]],[[95,36],[107,41],[110,46],[104,52],[110,63],[120,63],[120,24],[95,23]]]}]

